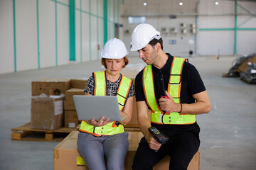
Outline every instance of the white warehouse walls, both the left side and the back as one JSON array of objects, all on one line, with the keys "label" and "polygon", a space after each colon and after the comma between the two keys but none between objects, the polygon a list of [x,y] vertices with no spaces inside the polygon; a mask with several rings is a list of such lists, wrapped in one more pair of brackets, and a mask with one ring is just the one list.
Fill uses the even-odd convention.
[{"label": "white warehouse walls, both the left side and the back", "polygon": [[[15,2],[14,9],[13,0],[0,1],[0,74],[70,63],[69,0],[58,0],[56,4],[53,0],[38,0],[38,11],[36,0]],[[137,25],[129,24],[127,17],[119,16],[127,10],[139,13],[139,7],[124,8],[129,4],[128,0],[124,4],[122,0],[107,2],[107,38],[115,36],[114,23],[122,23],[119,38],[130,49],[132,33],[126,33],[126,30],[132,32]],[[166,3],[171,2],[166,0],[160,4]],[[197,52],[198,55],[233,55],[235,51],[238,55],[245,55],[255,52],[256,18],[252,16],[256,13],[255,1],[238,1],[236,40],[235,1],[223,0],[219,3],[219,6],[213,6],[212,0],[199,1],[198,6],[192,3],[192,9],[195,13],[197,9],[198,17],[193,14],[193,10],[185,15],[182,13],[186,11],[181,10],[176,19],[170,19],[168,15],[150,16],[146,18],[146,22],[151,23],[157,30],[176,28],[176,34],[161,33],[164,51],[175,56],[187,57],[189,50]],[[157,8],[168,11],[161,6]],[[178,11],[178,8],[182,9],[174,6],[171,11]],[[146,9],[152,10],[153,8]],[[186,34],[181,33],[180,23],[186,23]],[[196,24],[196,35],[190,33],[191,23]],[[176,40],[176,45],[170,45],[169,40]],[[194,40],[195,43],[190,45],[189,40]],[[75,62],[100,59],[104,41],[104,0],[75,0]],[[129,55],[137,56],[137,52],[129,52]]]}]

